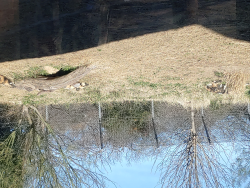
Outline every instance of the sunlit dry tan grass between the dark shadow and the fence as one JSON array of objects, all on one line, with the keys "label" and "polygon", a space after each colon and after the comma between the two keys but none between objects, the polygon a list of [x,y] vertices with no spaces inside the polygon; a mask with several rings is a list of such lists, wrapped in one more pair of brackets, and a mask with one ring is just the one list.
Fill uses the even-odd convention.
[{"label": "sunlit dry tan grass between the dark shadow and the fence", "polygon": [[[42,103],[72,102],[76,98],[74,102],[93,101],[91,96],[79,99],[90,91],[103,96],[118,93],[114,98],[122,99],[167,100],[170,95],[175,95],[164,95],[169,90],[166,86],[171,83],[185,85],[186,90],[196,85],[201,89],[204,82],[216,79],[214,71],[250,73],[250,43],[225,37],[200,25],[191,25],[63,55],[3,62],[0,74],[13,78],[14,72],[23,73],[34,66],[85,64],[96,67],[83,79],[89,84],[86,91],[55,91],[38,100]],[[27,96],[37,100],[36,93],[0,85],[0,102],[22,103]],[[186,96],[179,92],[178,97]]]}]

